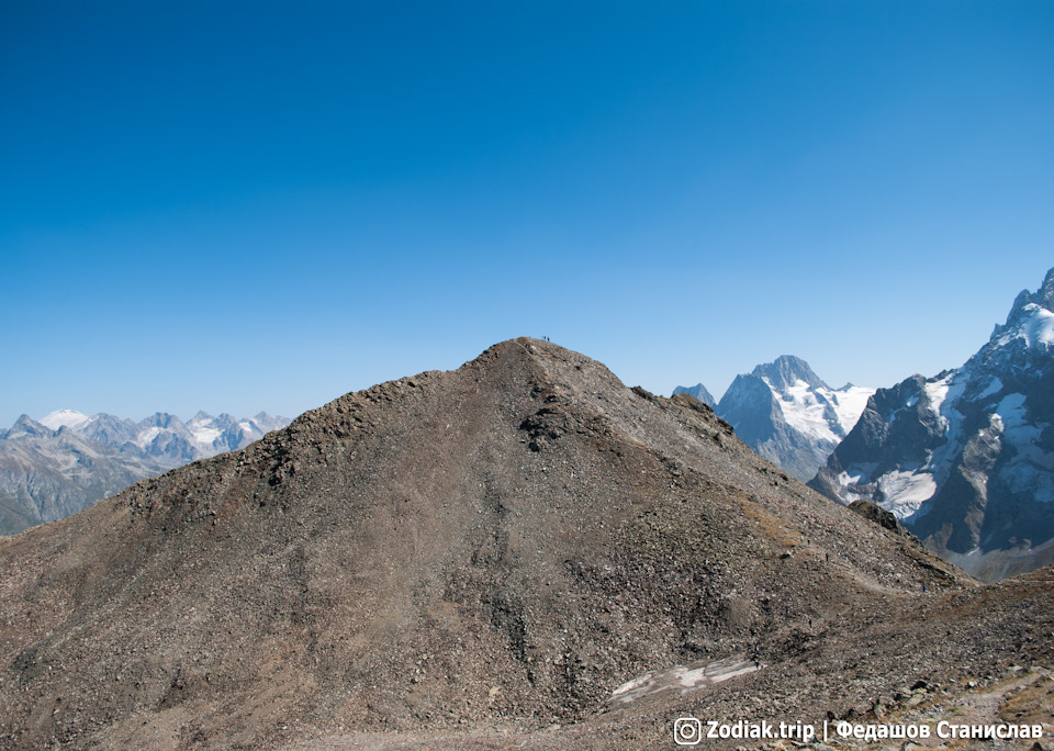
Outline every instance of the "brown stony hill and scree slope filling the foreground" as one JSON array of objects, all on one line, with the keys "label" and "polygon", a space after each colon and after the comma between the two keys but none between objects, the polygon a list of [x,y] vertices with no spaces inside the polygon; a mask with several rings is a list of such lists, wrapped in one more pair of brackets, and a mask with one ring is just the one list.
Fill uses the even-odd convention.
[{"label": "brown stony hill and scree slope filling the foreground", "polygon": [[983,587],[693,397],[515,339],[0,541],[0,747],[652,749],[682,715],[945,710],[1050,733],[1052,586]]}]

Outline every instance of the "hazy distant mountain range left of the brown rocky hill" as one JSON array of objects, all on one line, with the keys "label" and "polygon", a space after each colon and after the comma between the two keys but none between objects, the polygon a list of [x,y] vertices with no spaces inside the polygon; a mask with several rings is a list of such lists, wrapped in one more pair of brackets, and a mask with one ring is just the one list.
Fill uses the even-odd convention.
[{"label": "hazy distant mountain range left of the brown rocky hill", "polygon": [[0,534],[75,514],[128,485],[248,446],[289,424],[261,412],[236,419],[157,413],[138,423],[109,414],[22,415],[0,430]]}]

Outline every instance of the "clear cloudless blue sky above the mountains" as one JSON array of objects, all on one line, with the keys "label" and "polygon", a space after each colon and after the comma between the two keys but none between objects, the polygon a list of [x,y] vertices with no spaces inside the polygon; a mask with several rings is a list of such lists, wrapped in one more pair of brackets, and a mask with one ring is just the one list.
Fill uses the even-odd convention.
[{"label": "clear cloudless blue sky above the mountains", "polygon": [[961,365],[1054,266],[1054,3],[0,3],[0,425],[550,336]]}]

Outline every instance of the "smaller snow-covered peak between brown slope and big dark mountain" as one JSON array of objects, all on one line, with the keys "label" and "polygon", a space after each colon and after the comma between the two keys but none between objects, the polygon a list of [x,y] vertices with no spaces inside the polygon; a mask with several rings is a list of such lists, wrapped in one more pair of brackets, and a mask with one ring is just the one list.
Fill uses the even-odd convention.
[{"label": "smaller snow-covered peak between brown slope and big dark mountain", "polygon": [[855,425],[874,389],[832,389],[805,360],[784,355],[736,377],[714,407],[754,451],[803,482]]}]

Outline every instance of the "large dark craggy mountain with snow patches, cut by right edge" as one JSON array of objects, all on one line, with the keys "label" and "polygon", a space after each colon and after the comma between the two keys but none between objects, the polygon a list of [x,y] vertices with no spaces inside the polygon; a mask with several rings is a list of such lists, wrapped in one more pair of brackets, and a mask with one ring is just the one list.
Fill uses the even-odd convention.
[{"label": "large dark craggy mountain with snow patches, cut by right edge", "polygon": [[982,579],[1054,562],[1054,269],[963,367],[879,389],[810,484]]}]

